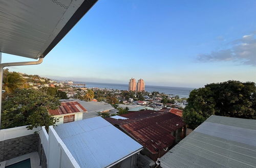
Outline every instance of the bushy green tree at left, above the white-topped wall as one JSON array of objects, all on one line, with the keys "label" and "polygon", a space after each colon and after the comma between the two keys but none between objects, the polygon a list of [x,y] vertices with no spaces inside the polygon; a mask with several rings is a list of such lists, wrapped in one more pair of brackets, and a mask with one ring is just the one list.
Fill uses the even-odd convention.
[{"label": "bushy green tree at left, above the white-topped wall", "polygon": [[17,89],[3,101],[1,128],[30,125],[27,128],[55,125],[57,119],[48,114],[47,108],[56,109],[59,101],[43,90]]}]

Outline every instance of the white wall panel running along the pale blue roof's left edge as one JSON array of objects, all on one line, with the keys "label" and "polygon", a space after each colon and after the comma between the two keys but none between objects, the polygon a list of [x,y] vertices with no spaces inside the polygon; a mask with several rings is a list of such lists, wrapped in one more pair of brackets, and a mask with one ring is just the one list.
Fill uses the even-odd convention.
[{"label": "white wall panel running along the pale blue roof's left edge", "polygon": [[80,167],[66,145],[62,142],[53,126],[49,127],[48,167]]}]

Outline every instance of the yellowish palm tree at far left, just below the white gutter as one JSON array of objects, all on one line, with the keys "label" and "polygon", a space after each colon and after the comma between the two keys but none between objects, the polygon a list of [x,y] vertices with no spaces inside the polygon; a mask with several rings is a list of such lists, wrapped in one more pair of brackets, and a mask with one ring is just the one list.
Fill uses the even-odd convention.
[{"label": "yellowish palm tree at far left, just below the white gutter", "polygon": [[15,89],[24,86],[25,79],[17,72],[6,72],[3,76],[3,89],[6,93],[13,93]]}]

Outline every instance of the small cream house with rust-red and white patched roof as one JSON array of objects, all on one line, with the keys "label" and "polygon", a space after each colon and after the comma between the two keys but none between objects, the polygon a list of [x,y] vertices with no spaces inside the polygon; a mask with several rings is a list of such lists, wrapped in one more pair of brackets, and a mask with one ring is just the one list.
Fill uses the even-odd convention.
[{"label": "small cream house with rust-red and white patched roof", "polygon": [[83,114],[87,112],[77,101],[61,102],[57,109],[49,109],[48,113],[59,119],[56,125],[82,120]]}]

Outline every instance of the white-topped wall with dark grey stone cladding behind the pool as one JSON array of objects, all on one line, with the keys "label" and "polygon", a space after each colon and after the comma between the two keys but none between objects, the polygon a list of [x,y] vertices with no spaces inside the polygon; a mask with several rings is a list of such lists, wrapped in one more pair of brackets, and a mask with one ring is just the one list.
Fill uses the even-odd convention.
[{"label": "white-topped wall with dark grey stone cladding behind the pool", "polygon": [[0,162],[37,151],[39,128],[27,130],[27,126],[0,130]]}]

